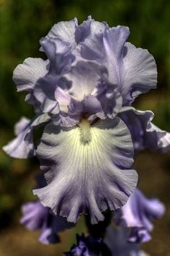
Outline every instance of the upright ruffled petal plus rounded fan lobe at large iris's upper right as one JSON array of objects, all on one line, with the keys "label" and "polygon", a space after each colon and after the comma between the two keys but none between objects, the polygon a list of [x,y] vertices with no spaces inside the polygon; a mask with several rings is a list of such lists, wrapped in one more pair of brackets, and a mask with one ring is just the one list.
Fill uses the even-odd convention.
[{"label": "upright ruffled petal plus rounded fan lobe at large iris's upper right", "polygon": [[107,68],[107,79],[117,85],[123,105],[129,106],[140,93],[156,88],[156,62],[146,49],[126,43],[128,27],[104,30],[102,36],[81,43],[81,56]]}]

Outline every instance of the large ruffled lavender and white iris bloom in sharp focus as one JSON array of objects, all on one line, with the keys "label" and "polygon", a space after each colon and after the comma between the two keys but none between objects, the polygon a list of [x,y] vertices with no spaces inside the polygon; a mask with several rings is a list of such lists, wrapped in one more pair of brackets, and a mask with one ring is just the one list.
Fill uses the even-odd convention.
[{"label": "large ruffled lavender and white iris bloom in sharp focus", "polygon": [[[169,150],[169,133],[151,123],[153,113],[131,106],[156,88],[157,72],[147,50],[126,42],[129,34],[91,17],[58,22],[40,40],[47,59],[28,58],[14,69],[17,90],[27,91],[36,114],[19,121],[4,150],[37,155],[48,185],[34,194],[71,222],[88,213],[97,223],[102,211],[125,205],[138,182],[134,148]],[[42,125],[36,148],[32,132]]]}]

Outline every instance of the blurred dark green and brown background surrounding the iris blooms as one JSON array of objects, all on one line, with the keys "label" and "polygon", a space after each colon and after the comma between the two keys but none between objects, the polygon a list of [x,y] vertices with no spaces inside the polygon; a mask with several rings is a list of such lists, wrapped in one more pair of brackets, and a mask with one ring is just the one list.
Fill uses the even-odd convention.
[{"label": "blurred dark green and brown background surrounding the iris blooms", "polygon": [[[170,132],[168,0],[0,0],[1,146],[14,137],[13,127],[19,118],[33,114],[32,106],[24,102],[24,94],[16,91],[12,81],[14,67],[29,56],[44,57],[38,51],[39,40],[53,24],[73,17],[82,22],[89,14],[111,27],[130,27],[129,41],[153,54],[158,66],[158,89],[140,96],[135,105],[152,110],[156,114],[154,123]],[[139,187],[147,196],[159,197],[167,209],[164,218],[155,221],[153,240],[144,248],[151,256],[170,256],[170,155],[145,151],[138,155],[135,166]],[[19,226],[22,202],[35,200],[31,189],[38,168],[35,159],[12,159],[0,150],[0,256],[61,256],[74,242],[76,232],[85,231],[82,218],[76,229],[61,234],[61,244],[45,246],[37,242],[37,232]]]}]

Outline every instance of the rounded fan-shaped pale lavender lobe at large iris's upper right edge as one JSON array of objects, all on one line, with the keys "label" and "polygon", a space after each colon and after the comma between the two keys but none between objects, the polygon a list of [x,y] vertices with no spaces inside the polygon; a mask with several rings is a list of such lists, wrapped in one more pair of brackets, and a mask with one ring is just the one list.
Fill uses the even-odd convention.
[{"label": "rounded fan-shaped pale lavender lobe at large iris's upper right edge", "polygon": [[123,49],[122,97],[128,106],[140,93],[156,88],[156,61],[146,49],[125,43]]}]

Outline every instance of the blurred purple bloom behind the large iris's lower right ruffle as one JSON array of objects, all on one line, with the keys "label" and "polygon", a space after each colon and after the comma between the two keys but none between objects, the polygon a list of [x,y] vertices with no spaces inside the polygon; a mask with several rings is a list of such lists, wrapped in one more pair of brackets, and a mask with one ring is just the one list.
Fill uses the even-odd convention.
[{"label": "blurred purple bloom behind the large iris's lower right ruffle", "polygon": [[146,198],[139,189],[135,189],[128,202],[115,211],[115,222],[120,226],[133,227],[129,242],[148,242],[153,229],[151,221],[161,218],[164,205],[157,199]]}]

